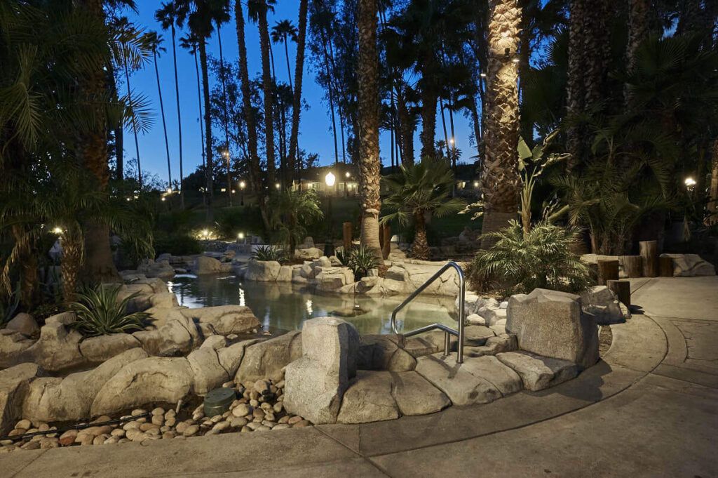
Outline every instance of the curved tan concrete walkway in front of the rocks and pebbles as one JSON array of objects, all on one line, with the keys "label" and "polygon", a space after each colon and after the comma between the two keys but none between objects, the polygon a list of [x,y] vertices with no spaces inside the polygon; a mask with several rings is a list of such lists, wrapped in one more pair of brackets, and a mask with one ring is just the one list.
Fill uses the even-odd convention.
[{"label": "curved tan concrete walkway in front of the rocks and pebbles", "polygon": [[361,426],[14,451],[0,477],[718,477],[718,277],[633,288],[643,315],[544,392]]}]

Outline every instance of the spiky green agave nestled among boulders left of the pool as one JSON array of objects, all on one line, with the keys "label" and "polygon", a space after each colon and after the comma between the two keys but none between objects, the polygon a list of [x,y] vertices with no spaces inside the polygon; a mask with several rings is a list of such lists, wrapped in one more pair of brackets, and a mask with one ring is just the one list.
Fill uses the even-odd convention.
[{"label": "spiky green agave nestled among boulders left of the pool", "polygon": [[70,310],[75,312],[78,320],[70,325],[90,337],[144,329],[144,322],[150,314],[127,313],[127,304],[137,294],[118,300],[120,288],[120,285],[98,285],[77,293],[78,300],[70,303]]}]

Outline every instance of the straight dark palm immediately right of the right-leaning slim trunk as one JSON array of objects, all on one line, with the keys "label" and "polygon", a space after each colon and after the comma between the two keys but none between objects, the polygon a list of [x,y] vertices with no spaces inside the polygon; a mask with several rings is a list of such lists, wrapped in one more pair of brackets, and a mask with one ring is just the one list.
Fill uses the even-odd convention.
[{"label": "straight dark palm immediately right of the right-leaning slim trunk", "polygon": [[274,0],[250,0],[249,18],[258,24],[262,60],[262,90],[264,91],[264,139],[267,161],[267,180],[274,183],[274,86],[269,67],[269,24],[267,12],[274,12]]}]

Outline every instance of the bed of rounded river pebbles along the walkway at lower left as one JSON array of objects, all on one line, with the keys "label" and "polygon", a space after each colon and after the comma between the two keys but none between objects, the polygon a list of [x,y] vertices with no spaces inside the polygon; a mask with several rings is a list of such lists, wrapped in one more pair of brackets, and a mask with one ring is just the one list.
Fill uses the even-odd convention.
[{"label": "bed of rounded river pebbles along the walkway at lower left", "polygon": [[[138,408],[120,417],[122,423],[114,425],[92,426],[113,420],[103,415],[89,422],[88,428],[69,430],[64,433],[37,435],[22,440],[0,441],[0,454],[14,450],[37,450],[58,448],[60,446],[107,445],[110,443],[143,442],[148,440],[167,440],[171,438],[189,438],[191,436],[217,435],[219,433],[285,430],[312,426],[301,416],[286,413],[284,410],[284,380],[274,383],[272,380],[236,385],[226,382],[223,387],[236,390],[238,398],[230,409],[222,415],[205,416],[200,404],[197,408],[184,405],[174,409],[156,407],[149,410]],[[177,411],[179,409],[179,412]],[[143,415],[139,418],[133,418]],[[186,418],[185,418],[186,417]],[[61,428],[67,428],[63,424]],[[49,423],[19,420],[8,436],[23,435],[37,431],[57,430]]]}]

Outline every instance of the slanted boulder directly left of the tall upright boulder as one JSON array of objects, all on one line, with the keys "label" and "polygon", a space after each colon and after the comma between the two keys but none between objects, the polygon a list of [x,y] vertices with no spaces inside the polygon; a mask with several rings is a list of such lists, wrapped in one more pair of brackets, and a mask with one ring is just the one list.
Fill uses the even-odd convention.
[{"label": "slanted boulder directly left of the tall upright boulder", "polygon": [[253,382],[280,374],[281,369],[299,357],[302,357],[302,335],[299,331],[258,342],[245,349],[235,382]]}]

